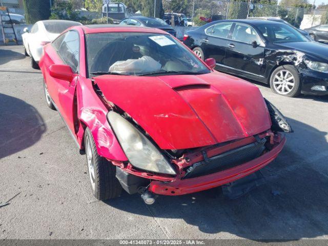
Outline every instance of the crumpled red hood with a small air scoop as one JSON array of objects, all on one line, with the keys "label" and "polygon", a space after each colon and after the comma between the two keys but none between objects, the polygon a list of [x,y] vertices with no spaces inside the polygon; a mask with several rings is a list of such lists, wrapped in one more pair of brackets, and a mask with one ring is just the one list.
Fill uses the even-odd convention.
[{"label": "crumpled red hood with a small air scoop", "polygon": [[127,112],[161,149],[214,145],[271,127],[259,89],[227,74],[102,75],[94,80],[107,100]]}]

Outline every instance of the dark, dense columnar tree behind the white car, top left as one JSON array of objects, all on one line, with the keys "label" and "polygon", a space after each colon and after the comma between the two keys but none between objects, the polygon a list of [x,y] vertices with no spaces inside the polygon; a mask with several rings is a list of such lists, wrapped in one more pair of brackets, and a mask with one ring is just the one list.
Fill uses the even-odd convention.
[{"label": "dark, dense columnar tree behind the white car, top left", "polygon": [[48,19],[50,16],[50,1],[23,0],[23,5],[27,24],[34,24],[38,20]]}]

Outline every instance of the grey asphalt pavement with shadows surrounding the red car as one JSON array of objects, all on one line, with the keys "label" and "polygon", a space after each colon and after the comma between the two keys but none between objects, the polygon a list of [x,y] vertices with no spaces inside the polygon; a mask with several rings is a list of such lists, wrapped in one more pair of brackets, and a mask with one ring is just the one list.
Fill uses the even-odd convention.
[{"label": "grey asphalt pavement with shadows surrounding the red car", "polygon": [[127,193],[102,202],[86,156],[46,105],[42,74],[22,46],[1,46],[0,239],[328,239],[328,97],[257,86],[295,131],[262,170],[264,185],[236,200],[215,188],[152,206]]}]

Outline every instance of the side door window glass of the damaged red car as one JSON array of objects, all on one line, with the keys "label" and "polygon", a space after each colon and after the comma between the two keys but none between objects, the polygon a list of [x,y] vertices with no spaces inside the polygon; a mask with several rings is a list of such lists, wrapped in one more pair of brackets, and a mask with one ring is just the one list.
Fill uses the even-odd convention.
[{"label": "side door window glass of the damaged red car", "polygon": [[78,72],[79,61],[79,37],[75,31],[65,33],[63,42],[57,49],[58,55],[63,59],[64,63],[69,65],[73,72]]}]

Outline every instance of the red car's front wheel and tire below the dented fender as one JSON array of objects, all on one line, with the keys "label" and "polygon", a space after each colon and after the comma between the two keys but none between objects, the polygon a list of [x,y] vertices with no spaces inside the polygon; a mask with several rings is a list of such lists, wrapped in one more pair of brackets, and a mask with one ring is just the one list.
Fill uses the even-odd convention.
[{"label": "red car's front wheel and tire below the dented fender", "polygon": [[116,179],[116,167],[107,159],[98,155],[96,144],[89,128],[85,131],[85,148],[93,195],[98,200],[118,197],[122,187]]}]

